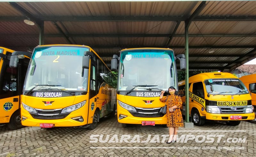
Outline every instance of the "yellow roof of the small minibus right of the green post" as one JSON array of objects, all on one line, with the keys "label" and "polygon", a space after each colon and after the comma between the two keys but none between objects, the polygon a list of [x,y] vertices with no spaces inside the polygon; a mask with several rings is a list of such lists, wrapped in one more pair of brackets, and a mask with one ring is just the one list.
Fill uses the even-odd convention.
[{"label": "yellow roof of the small minibus right of the green post", "polygon": [[[218,79],[218,78],[237,78],[235,75],[231,73],[224,73],[224,72],[212,72],[212,73],[201,73],[196,74],[189,77],[188,82],[197,82],[197,81],[204,81],[206,79]],[[178,82],[178,85],[184,85],[185,80]]]}]

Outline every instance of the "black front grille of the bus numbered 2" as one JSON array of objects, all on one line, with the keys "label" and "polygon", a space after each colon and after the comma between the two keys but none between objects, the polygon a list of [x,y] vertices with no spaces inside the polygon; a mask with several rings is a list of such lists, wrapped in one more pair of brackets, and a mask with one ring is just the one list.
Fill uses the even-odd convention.
[{"label": "black front grille of the bus numbered 2", "polygon": [[68,116],[69,113],[67,114],[60,114],[62,109],[57,109],[57,110],[41,110],[41,109],[36,109],[38,114],[33,114],[30,113],[33,118],[35,119],[63,119]]}]

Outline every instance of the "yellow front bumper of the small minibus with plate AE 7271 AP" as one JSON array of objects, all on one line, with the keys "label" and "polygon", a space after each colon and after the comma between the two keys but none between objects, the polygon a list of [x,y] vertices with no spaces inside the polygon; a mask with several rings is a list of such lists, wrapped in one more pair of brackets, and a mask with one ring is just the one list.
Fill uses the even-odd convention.
[{"label": "yellow front bumper of the small minibus with plate AE 7271 AP", "polygon": [[253,120],[254,113],[248,114],[211,114],[206,113],[207,120],[216,120],[216,121],[245,121],[245,120]]}]

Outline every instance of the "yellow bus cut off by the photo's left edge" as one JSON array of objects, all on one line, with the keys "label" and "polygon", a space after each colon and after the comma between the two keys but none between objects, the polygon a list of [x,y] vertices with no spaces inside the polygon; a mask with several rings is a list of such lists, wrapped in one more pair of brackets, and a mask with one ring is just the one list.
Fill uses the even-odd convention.
[{"label": "yellow bus cut off by the photo's left edge", "polygon": [[16,68],[10,68],[9,63],[13,52],[13,50],[0,47],[0,104],[2,106],[0,123],[6,123],[10,129],[20,129],[23,127],[20,118],[20,94],[30,58],[19,56],[24,59],[19,60]]}]

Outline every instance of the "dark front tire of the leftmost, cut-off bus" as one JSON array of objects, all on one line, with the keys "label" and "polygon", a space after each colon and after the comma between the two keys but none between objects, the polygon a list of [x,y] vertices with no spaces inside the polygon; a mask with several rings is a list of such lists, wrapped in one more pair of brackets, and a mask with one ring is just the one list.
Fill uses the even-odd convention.
[{"label": "dark front tire of the leftmost, cut-off bus", "polygon": [[12,130],[16,130],[24,127],[23,125],[21,125],[20,110],[17,110],[12,114],[10,118],[10,122],[7,124],[7,127]]}]

